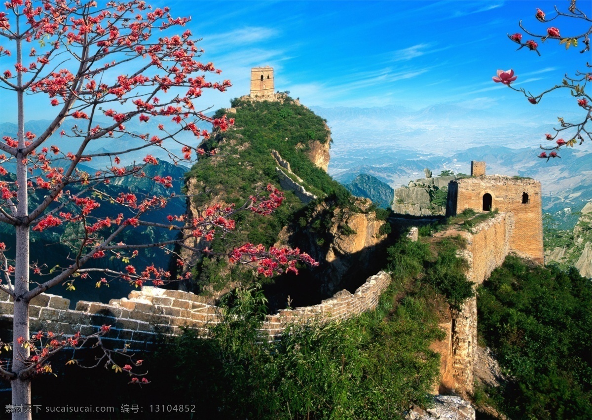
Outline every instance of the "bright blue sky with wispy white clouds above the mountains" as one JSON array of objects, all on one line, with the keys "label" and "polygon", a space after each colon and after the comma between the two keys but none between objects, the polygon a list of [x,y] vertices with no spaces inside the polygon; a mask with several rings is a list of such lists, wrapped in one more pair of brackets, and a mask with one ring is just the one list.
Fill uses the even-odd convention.
[{"label": "bright blue sky with wispy white clouds above the mountains", "polygon": [[[250,68],[271,65],[276,90],[290,91],[308,106],[403,105],[417,110],[454,103],[523,111],[535,105],[494,84],[497,69],[513,68],[518,76],[514,86],[538,94],[591,60],[590,54],[578,52],[581,48],[566,51],[557,41],[540,44],[541,57],[516,52],[506,34],[519,31],[520,19],[544,34],[551,24],[539,23],[535,12],[539,7],[552,15],[555,2],[549,1],[148,2],[168,5],[173,16],[191,16],[189,28],[203,39],[202,60],[214,62],[223,70],[221,78],[233,82],[224,94],[206,92],[203,108],[227,107],[231,98],[248,94]],[[556,4],[565,9],[569,1]],[[589,1],[578,5],[592,15]],[[583,32],[577,23],[553,25],[568,36]],[[577,110],[566,93],[528,112]],[[31,102],[35,119],[44,117],[46,104]],[[13,108],[2,108],[0,120],[14,120]]]}]

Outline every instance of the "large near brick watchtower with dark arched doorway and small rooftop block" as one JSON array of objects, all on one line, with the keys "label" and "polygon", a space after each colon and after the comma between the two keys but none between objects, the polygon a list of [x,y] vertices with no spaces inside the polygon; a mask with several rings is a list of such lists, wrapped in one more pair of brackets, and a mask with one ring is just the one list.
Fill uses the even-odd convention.
[{"label": "large near brick watchtower with dark arched doorway and small rooftop block", "polygon": [[471,162],[471,178],[448,187],[446,216],[473,209],[510,213],[510,250],[543,264],[543,220],[540,182],[530,178],[485,175],[485,162]]}]

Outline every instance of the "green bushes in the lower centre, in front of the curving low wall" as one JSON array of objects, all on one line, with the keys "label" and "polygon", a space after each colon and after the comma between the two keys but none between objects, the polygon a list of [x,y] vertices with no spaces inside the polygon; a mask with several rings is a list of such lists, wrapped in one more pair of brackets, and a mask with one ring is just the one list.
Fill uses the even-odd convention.
[{"label": "green bushes in the lower centre, in front of the curving low wall", "polygon": [[[439,373],[435,290],[415,280],[433,259],[421,242],[392,248],[394,281],[377,309],[343,322],[291,325],[278,341],[258,331],[265,297],[233,294],[210,338],[186,332],[164,347],[162,363],[181,399],[222,418],[402,418],[426,405]],[[170,367],[170,361],[174,361]]]}]

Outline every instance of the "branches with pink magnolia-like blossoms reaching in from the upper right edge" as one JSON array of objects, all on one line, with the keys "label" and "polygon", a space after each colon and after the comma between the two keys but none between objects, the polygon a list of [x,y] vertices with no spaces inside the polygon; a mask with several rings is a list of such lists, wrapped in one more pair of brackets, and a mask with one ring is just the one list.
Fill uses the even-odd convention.
[{"label": "branches with pink magnolia-like blossoms reaching in from the upper right edge", "polygon": [[[522,21],[519,23],[520,28],[527,34],[527,36],[532,37],[532,39],[523,42],[522,33],[508,34],[510,40],[519,44],[518,50],[525,49],[527,51],[533,51],[540,56],[539,42],[545,43],[557,41],[559,45],[565,45],[565,49],[570,49],[570,47],[580,47],[582,48],[580,53],[587,53],[587,56],[590,57],[592,18],[588,17],[577,7],[575,0],[570,1],[568,11],[564,12],[555,7],[552,17],[548,17],[541,9],[536,9],[535,17],[540,23],[546,25],[545,32],[542,34],[539,31],[531,31],[525,28]],[[557,23],[554,22],[552,23],[553,26],[549,26],[549,24],[555,20]],[[572,23],[574,23],[575,20],[583,21],[586,25],[590,24],[590,27],[585,29],[582,33],[565,34],[566,31],[574,27]],[[562,22],[562,24],[559,25],[559,22]],[[562,29],[560,30],[559,27]],[[558,155],[558,152],[561,148],[567,146],[573,147],[577,143],[581,145],[585,139],[592,140],[592,130],[587,126],[590,120],[592,120],[592,97],[590,97],[590,94],[586,91],[588,83],[592,82],[592,65],[590,62],[585,63],[584,70],[576,70],[572,75],[566,74],[561,84],[552,86],[536,96],[527,92],[524,88],[516,89],[511,86],[511,82],[515,81],[516,78],[517,76],[514,76],[514,71],[511,69],[506,70],[505,72],[503,70],[498,70],[497,76],[493,78],[493,81],[496,83],[503,83],[514,91],[522,92],[531,104],[538,104],[544,95],[555,91],[556,89],[570,89],[570,93],[574,97],[574,100],[577,101],[577,104],[584,110],[584,118],[581,121],[568,122],[565,121],[564,118],[558,117],[559,126],[554,128],[554,133],[545,134],[545,139],[549,142],[554,142],[555,144],[548,146],[541,145],[540,148],[543,149],[543,152],[540,153],[539,158],[547,159],[547,161],[550,158],[559,158],[561,156]]]}]

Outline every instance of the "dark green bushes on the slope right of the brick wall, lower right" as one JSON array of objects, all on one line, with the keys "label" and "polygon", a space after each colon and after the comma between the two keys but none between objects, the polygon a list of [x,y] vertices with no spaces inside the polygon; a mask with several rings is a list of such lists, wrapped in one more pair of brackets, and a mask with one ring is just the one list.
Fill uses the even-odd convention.
[{"label": "dark green bushes on the slope right of the brick wall, lower right", "polygon": [[508,379],[512,419],[592,418],[592,284],[575,269],[508,257],[478,290],[478,328]]}]

